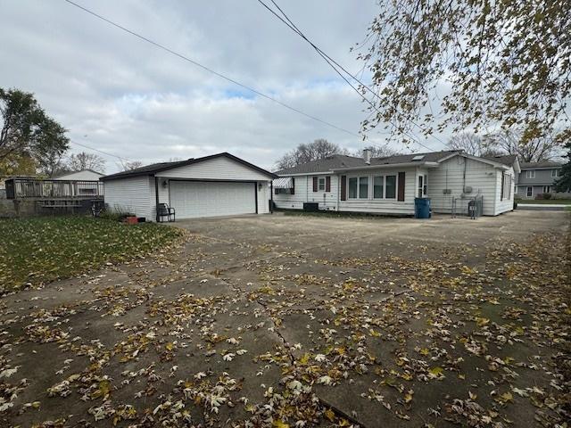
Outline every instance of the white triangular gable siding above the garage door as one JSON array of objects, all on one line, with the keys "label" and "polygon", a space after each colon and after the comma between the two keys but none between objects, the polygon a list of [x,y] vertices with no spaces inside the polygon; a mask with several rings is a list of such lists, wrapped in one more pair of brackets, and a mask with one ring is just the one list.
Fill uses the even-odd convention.
[{"label": "white triangular gable siding above the garage door", "polygon": [[209,161],[162,171],[161,177],[243,181],[270,180],[267,175],[222,156]]}]

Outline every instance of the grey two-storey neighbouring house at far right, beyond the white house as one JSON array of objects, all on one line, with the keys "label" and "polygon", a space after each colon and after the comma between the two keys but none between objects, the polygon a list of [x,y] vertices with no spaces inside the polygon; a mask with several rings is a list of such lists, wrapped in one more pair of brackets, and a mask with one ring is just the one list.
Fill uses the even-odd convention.
[{"label": "grey two-storey neighbouring house at far right, beyond the white house", "polygon": [[553,183],[561,172],[559,162],[522,162],[521,173],[517,178],[517,196],[522,199],[535,199],[543,193],[555,193]]}]

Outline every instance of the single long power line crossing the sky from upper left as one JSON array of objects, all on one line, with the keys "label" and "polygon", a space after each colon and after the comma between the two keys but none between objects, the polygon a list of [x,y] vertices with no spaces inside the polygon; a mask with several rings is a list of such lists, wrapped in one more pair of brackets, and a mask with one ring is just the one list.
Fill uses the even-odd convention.
[{"label": "single long power line crossing the sky from upper left", "polygon": [[282,107],[285,107],[285,108],[288,109],[288,110],[295,111],[296,113],[302,114],[302,115],[305,116],[306,118],[309,118],[309,119],[312,119],[312,120],[316,120],[316,121],[318,121],[318,122],[320,122],[320,123],[322,123],[322,124],[324,124],[324,125],[327,125],[328,127],[335,128],[335,129],[337,129],[337,130],[339,130],[339,131],[342,131],[342,132],[344,132],[344,133],[346,133],[346,134],[350,134],[350,135],[352,135],[352,136],[361,137],[359,134],[357,134],[357,133],[355,133],[355,132],[352,132],[352,131],[350,131],[350,130],[348,130],[348,129],[345,129],[345,128],[338,127],[338,126],[334,125],[333,123],[327,122],[327,120],[319,119],[318,117],[312,116],[312,115],[310,115],[309,113],[306,113],[306,112],[304,112],[304,111],[301,111],[301,110],[299,110],[299,109],[296,109],[295,107],[292,107],[291,105],[288,105],[288,104],[286,104],[286,103],[282,103],[281,101],[277,100],[276,98],[274,98],[274,97],[272,97],[272,96],[270,96],[270,95],[264,94],[264,93],[262,93],[262,92],[260,92],[260,91],[258,91],[258,90],[256,90],[256,89],[252,88],[251,86],[247,86],[247,85],[244,85],[243,83],[238,82],[238,81],[235,80],[234,78],[228,78],[228,76],[225,76],[224,74],[220,73],[219,71],[212,70],[211,68],[209,68],[209,67],[207,67],[207,66],[201,64],[200,62],[196,62],[196,61],[194,61],[194,60],[188,58],[186,55],[184,55],[184,54],[182,54],[182,53],[178,53],[178,52],[176,52],[176,51],[173,51],[172,49],[170,49],[170,47],[167,47],[167,46],[165,46],[165,45],[161,45],[160,43],[155,42],[155,41],[153,41],[152,39],[150,39],[150,38],[148,38],[148,37],[142,36],[141,34],[135,32],[135,31],[133,31],[133,30],[131,30],[131,29],[127,29],[126,27],[123,27],[122,25],[118,24],[117,22],[111,21],[111,20],[109,20],[108,18],[105,18],[104,16],[102,16],[102,15],[96,13],[96,12],[91,11],[91,10],[87,9],[86,7],[80,5],[80,4],[74,3],[74,2],[72,2],[71,0],[64,0],[64,1],[67,2],[68,4],[71,4],[71,5],[75,6],[75,7],[77,7],[78,9],[80,9],[80,10],[82,10],[82,11],[84,11],[84,12],[87,12],[87,13],[91,14],[92,16],[95,16],[95,18],[97,18],[97,19],[99,19],[99,20],[101,20],[101,21],[107,22],[108,24],[112,25],[113,27],[116,27],[117,29],[121,29],[122,31],[127,32],[127,33],[130,34],[131,36],[137,37],[137,38],[139,38],[139,39],[145,41],[146,43],[148,43],[148,44],[150,44],[150,45],[153,45],[153,46],[155,46],[155,47],[158,47],[159,49],[161,49],[161,50],[163,50],[163,51],[165,51],[165,52],[171,53],[171,54],[177,56],[178,58],[180,58],[181,60],[184,60],[184,61],[186,61],[186,62],[190,62],[191,64],[193,64],[193,65],[196,66],[196,67],[199,67],[199,68],[201,68],[201,69],[203,69],[203,70],[206,70],[206,71],[208,71],[209,73],[214,74],[215,76],[218,76],[219,78],[224,78],[225,80],[228,80],[228,82],[231,82],[231,83],[235,84],[236,86],[241,86],[241,87],[243,87],[244,89],[247,89],[248,91],[251,91],[252,93],[254,93],[254,94],[256,94],[256,95],[260,95],[261,97],[266,98],[266,99],[268,99],[269,101],[272,101],[272,102],[274,102],[274,103],[277,103],[277,104],[281,105]]}]

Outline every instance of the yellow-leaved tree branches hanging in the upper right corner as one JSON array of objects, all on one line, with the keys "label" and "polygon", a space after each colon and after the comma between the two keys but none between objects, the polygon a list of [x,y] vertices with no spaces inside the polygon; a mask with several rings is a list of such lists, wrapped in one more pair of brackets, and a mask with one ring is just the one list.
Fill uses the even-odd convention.
[{"label": "yellow-leaved tree branches hanging in the upper right corner", "polygon": [[373,83],[361,87],[374,104],[364,130],[388,123],[404,141],[448,127],[516,127],[523,143],[555,128],[559,144],[571,136],[571,0],[383,0],[379,7],[357,45]]}]

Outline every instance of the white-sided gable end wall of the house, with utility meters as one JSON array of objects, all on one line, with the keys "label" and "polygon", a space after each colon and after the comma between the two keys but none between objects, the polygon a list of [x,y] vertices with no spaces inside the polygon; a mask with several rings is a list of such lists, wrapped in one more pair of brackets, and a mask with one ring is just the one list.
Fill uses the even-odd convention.
[{"label": "white-sided gable end wall of the house, with utility meters", "polygon": [[[501,176],[501,171],[490,164],[461,156],[443,161],[440,167],[429,169],[428,172],[428,197],[432,200],[433,211],[450,213],[452,198],[459,197],[466,185],[472,187],[472,192],[467,196],[483,195],[484,215],[496,215],[496,201],[500,198],[498,184],[501,183],[498,174]],[[450,193],[444,193],[445,189],[450,189]],[[457,212],[468,213],[468,199],[457,202]]]}]

